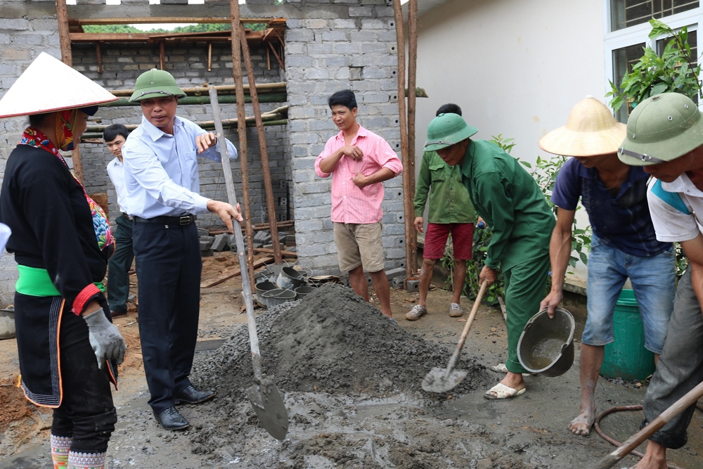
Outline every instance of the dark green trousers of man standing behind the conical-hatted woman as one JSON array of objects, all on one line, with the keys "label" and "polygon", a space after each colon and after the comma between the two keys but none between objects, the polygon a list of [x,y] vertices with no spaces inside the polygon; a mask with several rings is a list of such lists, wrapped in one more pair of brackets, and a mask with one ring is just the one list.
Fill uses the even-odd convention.
[{"label": "dark green trousers of man standing behind the conical-hatted woman", "polygon": [[127,312],[129,297],[129,269],[134,259],[132,252],[132,226],[134,221],[120,215],[115,219],[115,253],[108,262],[108,304],[110,311]]}]

